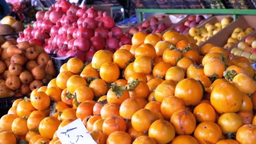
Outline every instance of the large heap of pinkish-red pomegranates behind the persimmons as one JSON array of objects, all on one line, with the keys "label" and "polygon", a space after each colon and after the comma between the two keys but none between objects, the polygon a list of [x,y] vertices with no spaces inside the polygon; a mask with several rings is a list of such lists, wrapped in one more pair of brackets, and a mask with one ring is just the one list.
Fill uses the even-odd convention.
[{"label": "large heap of pinkish-red pomegranates behind the persimmons", "polygon": [[115,52],[122,45],[131,45],[131,37],[115,27],[114,19],[94,7],[80,8],[67,0],[58,0],[48,11],[38,11],[36,19],[33,28],[28,25],[20,34],[18,43],[36,43],[57,57],[90,61],[96,51]]}]

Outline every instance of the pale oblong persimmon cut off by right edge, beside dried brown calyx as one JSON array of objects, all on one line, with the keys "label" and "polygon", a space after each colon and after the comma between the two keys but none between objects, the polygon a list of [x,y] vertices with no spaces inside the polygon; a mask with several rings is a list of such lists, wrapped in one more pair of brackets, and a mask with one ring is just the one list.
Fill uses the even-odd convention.
[{"label": "pale oblong persimmon cut off by right edge, beside dried brown calyx", "polygon": [[252,94],[256,91],[256,82],[245,74],[236,75],[232,83],[243,93]]}]

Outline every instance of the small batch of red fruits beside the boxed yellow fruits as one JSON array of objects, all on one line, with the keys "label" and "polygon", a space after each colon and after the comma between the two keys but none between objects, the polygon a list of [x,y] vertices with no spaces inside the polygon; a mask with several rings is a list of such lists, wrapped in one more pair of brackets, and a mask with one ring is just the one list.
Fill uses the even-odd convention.
[{"label": "small batch of red fruits beside the boxed yellow fruits", "polygon": [[189,16],[187,21],[184,22],[184,24],[180,24],[175,27],[175,30],[177,32],[187,34],[189,31],[189,28],[196,27],[198,24],[201,24],[205,21],[205,17],[202,15],[192,15]]}]

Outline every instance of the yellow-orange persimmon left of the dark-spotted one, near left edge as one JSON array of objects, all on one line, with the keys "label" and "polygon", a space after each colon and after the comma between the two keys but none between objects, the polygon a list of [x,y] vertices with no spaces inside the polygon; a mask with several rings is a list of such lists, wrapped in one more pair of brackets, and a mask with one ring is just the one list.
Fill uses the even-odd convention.
[{"label": "yellow-orange persimmon left of the dark-spotted one, near left edge", "polygon": [[20,101],[17,105],[16,113],[19,117],[29,117],[31,112],[36,110],[33,105],[31,104],[31,101],[29,101],[28,98],[24,98],[23,101]]}]

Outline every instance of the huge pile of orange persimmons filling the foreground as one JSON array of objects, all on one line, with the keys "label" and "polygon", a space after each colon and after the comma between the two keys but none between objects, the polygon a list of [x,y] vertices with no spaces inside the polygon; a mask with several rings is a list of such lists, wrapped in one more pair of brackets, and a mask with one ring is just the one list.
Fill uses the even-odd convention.
[{"label": "huge pile of orange persimmons filling the foreground", "polygon": [[97,51],[88,65],[69,59],[47,86],[13,103],[0,143],[61,144],[56,130],[80,118],[97,144],[256,144],[246,58],[199,49],[175,31],[138,32],[132,43]]}]

